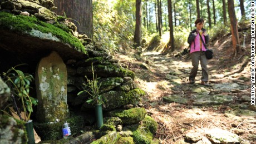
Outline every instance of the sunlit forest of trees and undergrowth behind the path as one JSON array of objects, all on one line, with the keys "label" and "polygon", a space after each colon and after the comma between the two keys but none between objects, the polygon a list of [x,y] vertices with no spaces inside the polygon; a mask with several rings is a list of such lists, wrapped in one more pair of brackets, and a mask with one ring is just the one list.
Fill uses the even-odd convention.
[{"label": "sunlit forest of trees and undergrowth behind the path", "polygon": [[109,53],[129,52],[134,48],[136,51],[154,48],[165,54],[181,51],[188,46],[186,39],[195,28],[195,19],[201,17],[211,40],[234,29],[236,55],[242,48],[238,28],[243,29],[250,20],[248,0],[60,0],[55,1],[55,6],[57,14],[70,18],[78,32],[87,34],[95,43],[100,42]]}]

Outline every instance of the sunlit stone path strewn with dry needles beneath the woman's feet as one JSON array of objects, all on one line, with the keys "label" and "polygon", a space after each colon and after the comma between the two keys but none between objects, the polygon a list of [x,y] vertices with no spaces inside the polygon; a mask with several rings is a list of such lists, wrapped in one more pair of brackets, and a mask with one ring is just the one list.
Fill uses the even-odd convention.
[{"label": "sunlit stone path strewn with dry needles beneath the woman's feet", "polygon": [[156,137],[162,143],[256,142],[256,107],[250,105],[246,69],[230,75],[214,61],[208,64],[211,86],[199,85],[200,68],[196,83],[188,84],[191,62],[184,58],[147,52],[145,63],[130,67],[147,93],[142,104],[159,123]]}]

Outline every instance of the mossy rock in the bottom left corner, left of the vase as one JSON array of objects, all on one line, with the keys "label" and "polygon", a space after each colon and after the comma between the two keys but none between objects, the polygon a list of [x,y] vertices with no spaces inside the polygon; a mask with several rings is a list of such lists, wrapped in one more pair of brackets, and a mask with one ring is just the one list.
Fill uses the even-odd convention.
[{"label": "mossy rock in the bottom left corner, left of the vase", "polygon": [[0,115],[0,143],[27,143],[25,122]]}]

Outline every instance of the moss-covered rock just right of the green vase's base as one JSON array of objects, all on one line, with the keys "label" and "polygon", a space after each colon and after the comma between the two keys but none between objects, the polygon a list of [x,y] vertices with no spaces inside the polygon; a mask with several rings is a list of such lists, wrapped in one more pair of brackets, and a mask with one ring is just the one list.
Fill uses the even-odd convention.
[{"label": "moss-covered rock just right of the green vase's base", "polygon": [[144,108],[131,108],[130,110],[114,110],[108,112],[107,115],[119,117],[124,125],[138,123],[145,118],[146,110]]}]

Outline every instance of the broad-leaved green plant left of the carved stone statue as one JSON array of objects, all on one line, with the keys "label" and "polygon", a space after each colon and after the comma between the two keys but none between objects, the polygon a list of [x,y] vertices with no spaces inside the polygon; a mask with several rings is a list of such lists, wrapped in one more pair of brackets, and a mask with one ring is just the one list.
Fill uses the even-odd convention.
[{"label": "broad-leaved green plant left of the carved stone statue", "polygon": [[36,106],[38,100],[29,96],[29,89],[32,88],[29,87],[29,85],[34,79],[33,76],[16,69],[16,67],[22,65],[24,64],[19,64],[8,69],[6,73],[3,73],[3,76],[4,80],[6,80],[5,82],[11,88],[12,95],[18,97],[18,100],[21,100],[22,109],[24,111],[24,121],[28,121],[33,112],[32,106]]}]

